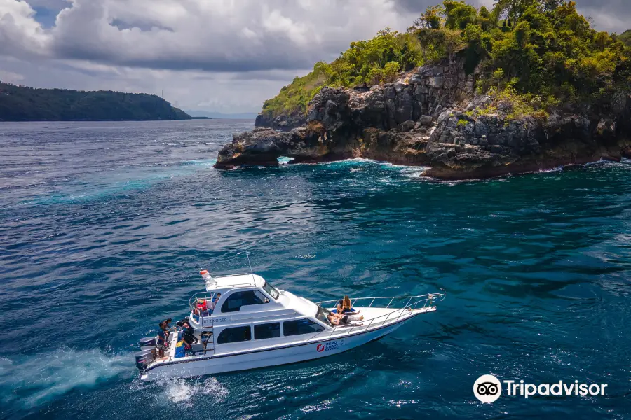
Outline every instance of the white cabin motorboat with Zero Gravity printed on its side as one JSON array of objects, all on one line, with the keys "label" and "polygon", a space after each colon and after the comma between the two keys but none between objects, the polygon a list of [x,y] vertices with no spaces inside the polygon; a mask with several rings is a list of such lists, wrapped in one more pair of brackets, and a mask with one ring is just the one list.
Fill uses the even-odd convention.
[{"label": "white cabin motorboat with Zero Gravity printed on its side", "polygon": [[[443,293],[418,296],[353,297],[362,316],[346,325],[329,320],[339,300],[311,302],[278,290],[257,274],[210,276],[205,291],[189,300],[184,321],[196,343],[183,351],[182,332],[173,330],[163,357],[157,337],[140,340],[140,379],[154,381],[250,370],[332,356],[380,339],[412,318],[436,310]],[[214,308],[214,309],[213,309]]]}]

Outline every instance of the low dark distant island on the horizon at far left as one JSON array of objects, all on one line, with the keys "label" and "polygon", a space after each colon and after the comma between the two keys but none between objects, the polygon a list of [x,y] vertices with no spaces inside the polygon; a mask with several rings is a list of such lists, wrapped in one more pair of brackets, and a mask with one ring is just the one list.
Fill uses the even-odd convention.
[{"label": "low dark distant island on the horizon at far left", "polygon": [[155,94],[37,89],[0,82],[0,121],[190,120]]}]

